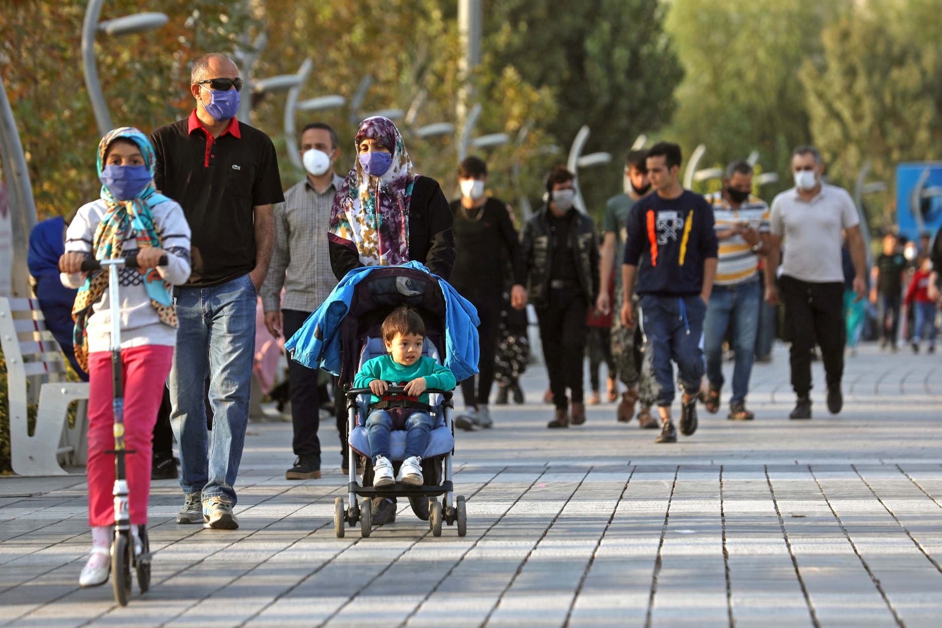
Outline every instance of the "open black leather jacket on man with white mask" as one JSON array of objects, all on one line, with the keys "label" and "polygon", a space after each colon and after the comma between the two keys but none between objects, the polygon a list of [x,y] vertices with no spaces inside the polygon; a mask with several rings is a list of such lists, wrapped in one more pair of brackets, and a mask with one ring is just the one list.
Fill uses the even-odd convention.
[{"label": "open black leather jacket on man with white mask", "polygon": [[[546,220],[545,205],[529,218],[520,235],[520,248],[527,268],[527,293],[535,308],[549,305],[549,280],[553,267],[552,237]],[[586,302],[594,303],[598,295],[598,233],[592,217],[573,210],[569,217],[569,238],[576,251],[578,282]]]}]

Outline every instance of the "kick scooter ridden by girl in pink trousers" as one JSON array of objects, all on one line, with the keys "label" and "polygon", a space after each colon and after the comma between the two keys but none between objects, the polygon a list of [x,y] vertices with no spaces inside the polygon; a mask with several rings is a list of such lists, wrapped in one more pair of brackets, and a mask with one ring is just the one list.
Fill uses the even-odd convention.
[{"label": "kick scooter ridden by girl in pink trousers", "polygon": [[[146,593],[151,588],[151,549],[147,540],[146,526],[141,525],[139,530],[141,551],[138,553],[135,550],[135,542],[131,534],[131,513],[127,500],[128,491],[124,457],[128,454],[136,454],[137,451],[124,448],[121,306],[118,300],[118,287],[121,282],[119,269],[121,266],[137,268],[138,259],[132,254],[123,259],[96,260],[89,258],[82,262],[83,271],[108,268],[108,301],[111,303],[111,390],[115,437],[115,448],[105,452],[106,454],[115,455],[115,539],[111,543],[111,585],[115,591],[115,602],[126,606],[128,598],[131,597],[132,567],[138,575],[140,592]],[[166,255],[160,258],[158,266],[167,266]]]}]

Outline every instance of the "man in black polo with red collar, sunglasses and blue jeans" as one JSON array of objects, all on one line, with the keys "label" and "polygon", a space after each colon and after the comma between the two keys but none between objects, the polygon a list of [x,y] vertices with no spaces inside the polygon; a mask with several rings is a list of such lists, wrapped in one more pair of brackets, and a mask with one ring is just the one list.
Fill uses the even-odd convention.
[{"label": "man in black polo with red collar, sunglasses and blue jeans", "polygon": [[[235,120],[242,80],[219,54],[193,62],[196,109],[151,134],[154,182],[193,231],[189,282],[176,302],[171,425],[186,502],[177,523],[235,529],[235,475],[249,420],[255,303],[274,243],[272,203],[284,201],[271,139]],[[203,381],[209,378],[212,432]]]}]

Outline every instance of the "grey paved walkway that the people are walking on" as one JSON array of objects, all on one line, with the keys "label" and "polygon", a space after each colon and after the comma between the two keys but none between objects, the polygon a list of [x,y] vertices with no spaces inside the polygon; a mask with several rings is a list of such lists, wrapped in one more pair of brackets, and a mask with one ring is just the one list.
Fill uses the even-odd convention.
[{"label": "grey paved walkway that the people are walking on", "polygon": [[545,429],[534,368],[528,405],[459,435],[464,539],[432,538],[408,506],[335,539],[333,427],[325,475],[287,482],[290,426],[253,423],[242,527],[173,523],[179,488],[154,482],[154,584],[126,608],[76,586],[83,478],[0,478],[0,625],[938,626],[942,359],[865,347],[845,411],[818,390],[810,422],[787,420],[787,382],[779,349],[755,367],[755,422],[701,411],[693,437],[658,445],[612,405]]}]

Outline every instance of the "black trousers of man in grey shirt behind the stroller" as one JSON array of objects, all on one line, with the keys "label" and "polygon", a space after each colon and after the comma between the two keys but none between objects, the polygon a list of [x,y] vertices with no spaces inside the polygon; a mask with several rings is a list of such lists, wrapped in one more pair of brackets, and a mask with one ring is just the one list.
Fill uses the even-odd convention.
[{"label": "black trousers of man in grey shirt behind the stroller", "polygon": [[[310,312],[282,310],[284,337],[290,338],[304,324]],[[294,440],[291,445],[295,456],[320,456],[320,400],[317,395],[316,368],[308,368],[300,362],[288,361],[288,395],[291,398],[291,424]]]}]

